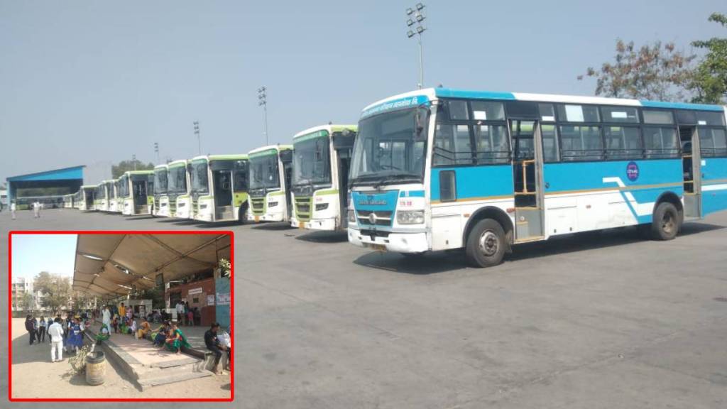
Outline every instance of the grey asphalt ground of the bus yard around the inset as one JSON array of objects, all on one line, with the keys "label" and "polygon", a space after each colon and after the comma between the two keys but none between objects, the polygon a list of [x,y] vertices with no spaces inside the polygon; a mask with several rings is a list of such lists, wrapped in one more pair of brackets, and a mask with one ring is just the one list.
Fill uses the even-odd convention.
[{"label": "grey asphalt ground of the bus yard around the inset", "polygon": [[[3,233],[211,228],[19,214],[0,213]],[[212,228],[235,232],[236,401],[195,408],[727,407],[727,213],[672,242],[619,229],[521,245],[491,269],[281,224]]]}]

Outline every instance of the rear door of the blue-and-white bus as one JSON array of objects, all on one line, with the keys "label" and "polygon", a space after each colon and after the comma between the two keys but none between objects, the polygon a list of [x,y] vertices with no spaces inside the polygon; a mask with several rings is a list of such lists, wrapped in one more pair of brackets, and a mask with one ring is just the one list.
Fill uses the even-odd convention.
[{"label": "rear door of the blue-and-white bus", "polygon": [[684,179],[684,218],[702,217],[702,157],[699,132],[694,126],[679,127]]}]

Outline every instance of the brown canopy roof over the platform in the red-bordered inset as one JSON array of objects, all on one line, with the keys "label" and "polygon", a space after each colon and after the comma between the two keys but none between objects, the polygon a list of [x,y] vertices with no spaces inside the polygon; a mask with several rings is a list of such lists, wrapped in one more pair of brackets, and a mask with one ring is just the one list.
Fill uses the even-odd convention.
[{"label": "brown canopy roof over the platform in the red-bordered inset", "polygon": [[[231,240],[230,234],[210,233],[79,234],[73,290],[116,299],[153,287],[164,293],[194,277],[212,277],[221,258],[230,260]],[[199,304],[214,316],[217,298],[225,297],[209,295]]]}]

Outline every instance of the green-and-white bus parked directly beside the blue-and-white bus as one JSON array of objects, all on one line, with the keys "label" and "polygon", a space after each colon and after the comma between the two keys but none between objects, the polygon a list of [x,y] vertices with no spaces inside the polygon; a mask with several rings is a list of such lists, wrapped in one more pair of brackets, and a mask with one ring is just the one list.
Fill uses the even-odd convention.
[{"label": "green-and-white bus parked directly beside the blue-and-white bus", "polygon": [[356,125],[323,125],[293,137],[291,226],[300,229],[346,228],[348,167]]}]

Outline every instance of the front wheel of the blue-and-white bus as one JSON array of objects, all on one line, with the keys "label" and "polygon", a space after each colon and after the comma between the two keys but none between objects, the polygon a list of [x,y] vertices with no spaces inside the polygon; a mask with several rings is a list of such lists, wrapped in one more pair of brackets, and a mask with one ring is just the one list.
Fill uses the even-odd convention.
[{"label": "front wheel of the blue-and-white bus", "polygon": [[497,266],[505,256],[505,230],[493,219],[478,221],[467,234],[465,253],[473,267]]}]

